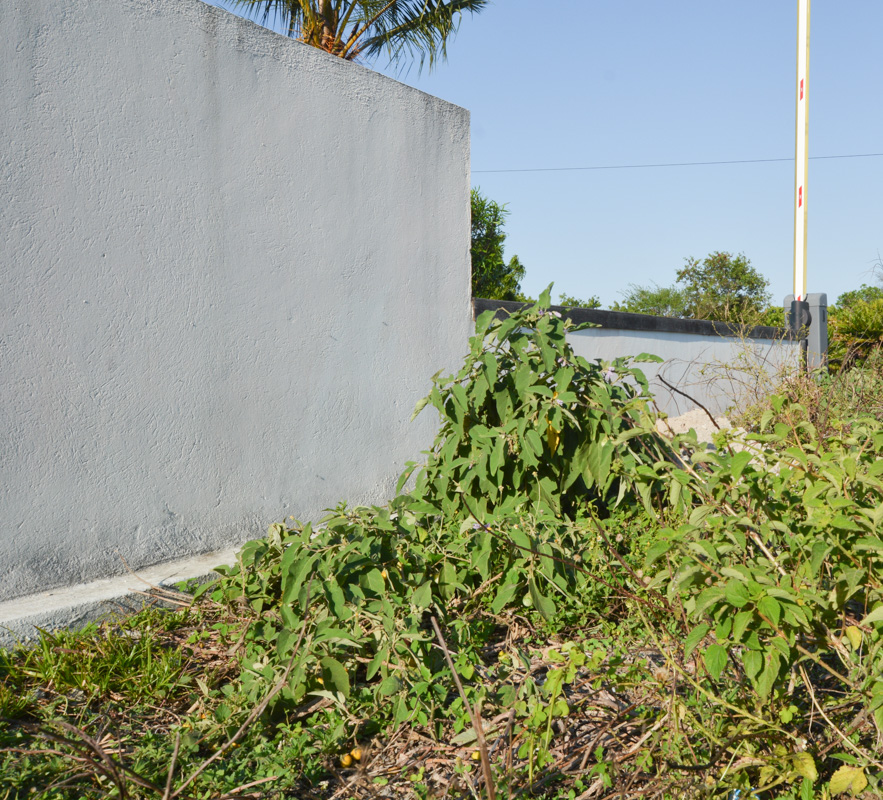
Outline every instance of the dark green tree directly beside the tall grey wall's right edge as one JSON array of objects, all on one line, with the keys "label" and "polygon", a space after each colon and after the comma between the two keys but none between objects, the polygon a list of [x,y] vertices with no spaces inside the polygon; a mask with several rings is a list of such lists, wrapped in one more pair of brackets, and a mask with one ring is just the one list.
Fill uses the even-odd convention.
[{"label": "dark green tree directly beside the tall grey wall's right edge", "polygon": [[525,269],[512,256],[503,259],[506,233],[503,228],[506,206],[489,200],[480,189],[473,189],[472,205],[472,296],[488,300],[522,300],[521,281]]}]

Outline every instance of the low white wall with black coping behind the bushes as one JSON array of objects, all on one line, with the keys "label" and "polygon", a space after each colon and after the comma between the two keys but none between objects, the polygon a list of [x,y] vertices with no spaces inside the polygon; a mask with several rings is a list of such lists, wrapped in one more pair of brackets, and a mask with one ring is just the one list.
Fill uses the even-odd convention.
[{"label": "low white wall with black coping behind the bushes", "polygon": [[[505,314],[521,305],[475,300],[474,313],[498,309]],[[705,320],[561,306],[553,309],[574,322],[595,326],[568,338],[574,352],[589,361],[609,362],[642,353],[662,358],[661,364],[635,366],[647,376],[659,410],[669,416],[692,411],[698,404],[717,416],[734,405],[760,401],[769,395],[783,369],[799,363],[798,342],[779,328],[740,330]]]}]

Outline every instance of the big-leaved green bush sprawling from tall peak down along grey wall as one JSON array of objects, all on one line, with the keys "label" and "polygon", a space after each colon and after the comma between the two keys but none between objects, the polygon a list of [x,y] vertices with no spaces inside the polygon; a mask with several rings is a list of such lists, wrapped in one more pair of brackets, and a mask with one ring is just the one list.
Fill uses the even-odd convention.
[{"label": "big-leaved green bush sprawling from tall peak down along grey wall", "polygon": [[344,703],[358,683],[359,703],[376,709],[395,696],[394,720],[426,722],[441,704],[427,687],[443,665],[425,612],[474,661],[464,614],[531,608],[552,624],[607,597],[574,568],[598,557],[590,520],[618,504],[668,502],[655,465],[673,455],[643,374],[626,359],[574,355],[565,335],[579,327],[548,305],[549,290],[504,319],[483,314],[462,369],[433,380],[414,413],[432,405],[441,426],[411,492],[385,508],[342,506],[319,530],[273,526],[220,570],[213,597],[257,615],[243,670],[254,698],[294,658],[279,702],[310,692]]}]

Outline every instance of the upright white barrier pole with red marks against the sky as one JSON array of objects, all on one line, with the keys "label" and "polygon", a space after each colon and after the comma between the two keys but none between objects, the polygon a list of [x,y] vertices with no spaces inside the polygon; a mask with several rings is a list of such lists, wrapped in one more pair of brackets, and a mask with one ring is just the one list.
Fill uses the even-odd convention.
[{"label": "upright white barrier pole with red marks against the sky", "polygon": [[806,299],[806,173],[808,166],[809,3],[797,0],[797,137],[794,151],[794,299]]}]

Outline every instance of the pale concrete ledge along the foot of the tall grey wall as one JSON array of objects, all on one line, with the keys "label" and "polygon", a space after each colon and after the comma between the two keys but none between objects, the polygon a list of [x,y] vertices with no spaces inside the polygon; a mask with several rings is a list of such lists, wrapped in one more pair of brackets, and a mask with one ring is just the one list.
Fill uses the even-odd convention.
[{"label": "pale concrete ledge along the foot of the tall grey wall", "polygon": [[78,628],[109,616],[130,614],[151,602],[144,595],[150,586],[172,588],[181,581],[209,580],[215,567],[234,564],[240,549],[231,547],[157,564],[134,574],[0,602],[0,648],[32,642],[39,629]]}]

